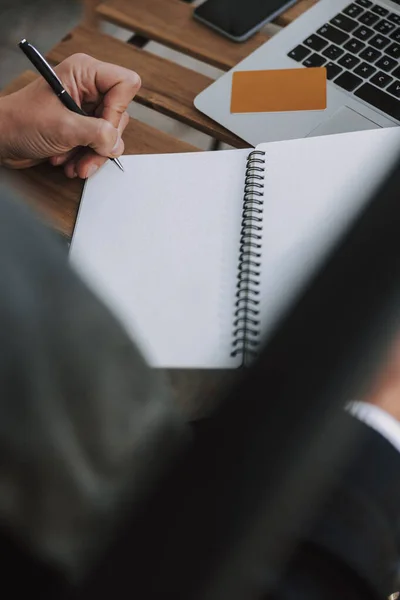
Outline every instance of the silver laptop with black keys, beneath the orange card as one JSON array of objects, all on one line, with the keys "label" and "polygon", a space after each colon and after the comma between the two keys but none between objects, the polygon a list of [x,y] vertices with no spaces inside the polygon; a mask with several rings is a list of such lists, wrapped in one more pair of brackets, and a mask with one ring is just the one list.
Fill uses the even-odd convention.
[{"label": "silver laptop with black keys, beneath the orange card", "polygon": [[[234,71],[327,69],[323,111],[231,114]],[[252,145],[400,123],[400,0],[320,0],[223,75],[195,106]]]}]

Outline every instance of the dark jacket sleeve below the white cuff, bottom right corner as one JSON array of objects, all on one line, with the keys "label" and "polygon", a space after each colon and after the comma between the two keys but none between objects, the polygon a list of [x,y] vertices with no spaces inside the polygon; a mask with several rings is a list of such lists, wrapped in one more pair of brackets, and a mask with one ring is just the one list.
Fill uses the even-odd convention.
[{"label": "dark jacket sleeve below the white cuff, bottom right corner", "polygon": [[363,451],[305,533],[271,600],[382,600],[400,590],[400,453],[357,426],[365,430]]}]

